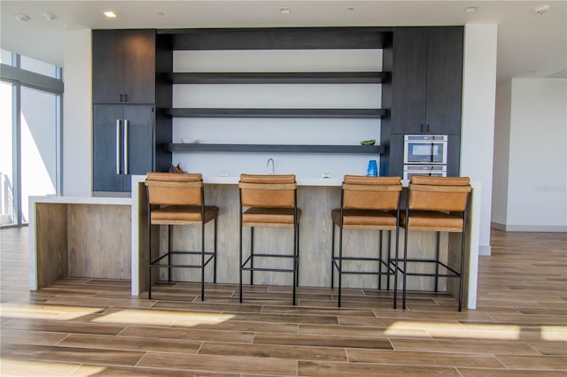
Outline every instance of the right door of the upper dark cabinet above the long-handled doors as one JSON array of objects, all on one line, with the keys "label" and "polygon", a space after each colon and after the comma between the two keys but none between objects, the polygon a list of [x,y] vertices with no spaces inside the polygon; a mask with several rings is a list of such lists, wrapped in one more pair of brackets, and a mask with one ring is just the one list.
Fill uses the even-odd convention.
[{"label": "right door of the upper dark cabinet above the long-handled doors", "polygon": [[127,104],[155,103],[156,36],[153,30],[124,30],[123,94]]}]

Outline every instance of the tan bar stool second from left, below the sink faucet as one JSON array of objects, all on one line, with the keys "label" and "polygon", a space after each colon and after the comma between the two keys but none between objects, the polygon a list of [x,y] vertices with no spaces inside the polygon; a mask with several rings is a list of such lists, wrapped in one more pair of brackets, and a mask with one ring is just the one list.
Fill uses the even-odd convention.
[{"label": "tan bar stool second from left, below the sink faucet", "polygon": [[[240,191],[240,302],[242,303],[242,273],[254,271],[292,273],[293,304],[296,304],[296,286],[299,283],[299,219],[297,183],[294,174],[241,174]],[[250,227],[250,255],[244,258],[243,228]],[[291,227],[292,253],[275,254],[254,250],[254,227]],[[271,268],[254,265],[254,258],[291,259],[290,268]]]}]

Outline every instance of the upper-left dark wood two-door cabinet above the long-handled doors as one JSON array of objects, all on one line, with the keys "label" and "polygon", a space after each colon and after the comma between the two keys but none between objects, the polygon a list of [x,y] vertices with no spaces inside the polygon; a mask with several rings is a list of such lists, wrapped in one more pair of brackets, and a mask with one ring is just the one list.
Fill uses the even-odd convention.
[{"label": "upper-left dark wood two-door cabinet above the long-handled doors", "polygon": [[155,30],[93,30],[93,104],[154,104]]}]

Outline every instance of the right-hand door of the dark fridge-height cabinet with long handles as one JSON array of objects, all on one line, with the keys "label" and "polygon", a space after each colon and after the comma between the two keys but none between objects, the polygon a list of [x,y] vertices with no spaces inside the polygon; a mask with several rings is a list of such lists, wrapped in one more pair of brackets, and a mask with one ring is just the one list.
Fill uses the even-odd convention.
[{"label": "right-hand door of the dark fridge-height cabinet with long handles", "polygon": [[154,160],[154,125],[155,111],[153,106],[126,105],[124,119],[128,127],[124,130],[125,148],[127,150],[126,190],[131,188],[131,174],[145,174],[153,170]]}]

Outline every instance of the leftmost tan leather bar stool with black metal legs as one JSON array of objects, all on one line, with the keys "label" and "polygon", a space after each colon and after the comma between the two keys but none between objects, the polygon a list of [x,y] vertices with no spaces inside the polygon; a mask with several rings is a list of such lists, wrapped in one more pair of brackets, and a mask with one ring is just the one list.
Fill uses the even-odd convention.
[{"label": "leftmost tan leather bar stool with black metal legs", "polygon": [[[201,270],[201,301],[205,300],[205,267],[213,260],[213,281],[216,282],[216,226],[219,208],[205,205],[203,177],[200,173],[147,173],[145,180],[148,195],[149,273],[148,298],[151,299],[151,269],[167,267],[167,279],[171,281],[171,269],[199,268]],[[205,225],[214,220],[214,250],[205,250]],[[151,255],[151,226],[167,225],[167,251],[158,258]],[[174,225],[200,225],[201,250],[172,250]],[[200,256],[197,264],[175,263],[175,255]],[[167,258],[167,264],[162,261]]]}]

